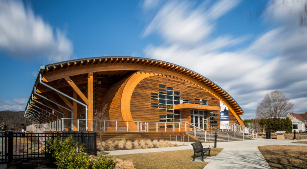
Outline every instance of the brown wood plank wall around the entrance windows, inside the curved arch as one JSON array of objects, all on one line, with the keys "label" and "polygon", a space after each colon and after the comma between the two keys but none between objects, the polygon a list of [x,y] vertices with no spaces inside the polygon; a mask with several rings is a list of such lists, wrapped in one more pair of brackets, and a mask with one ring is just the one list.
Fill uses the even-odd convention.
[{"label": "brown wood plank wall around the entrance windows, inside the curved arch", "polygon": [[[206,90],[188,81],[168,75],[157,75],[143,79],[134,89],[130,111],[134,121],[159,121],[159,115],[167,115],[166,110],[151,108],[151,103],[159,103],[158,100],[151,99],[151,93],[159,93],[159,84],[172,87],[174,91],[179,91],[181,100],[188,100],[194,103],[202,103],[195,99],[208,100],[209,105],[220,106],[220,101]],[[160,91],[161,92],[161,91]],[[181,110],[182,121],[190,123],[190,114]],[[185,114],[185,115],[184,115]]]}]

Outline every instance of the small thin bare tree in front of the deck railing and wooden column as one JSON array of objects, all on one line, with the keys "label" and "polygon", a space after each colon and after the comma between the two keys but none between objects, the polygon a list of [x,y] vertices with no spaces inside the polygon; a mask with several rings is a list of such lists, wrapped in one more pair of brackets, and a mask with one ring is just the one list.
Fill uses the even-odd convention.
[{"label": "small thin bare tree in front of the deck railing and wooden column", "polygon": [[104,105],[103,109],[97,111],[94,120],[93,127],[99,133],[100,136],[100,145],[102,147],[102,135],[107,131],[107,128],[110,126],[109,113],[107,113],[107,104]]}]

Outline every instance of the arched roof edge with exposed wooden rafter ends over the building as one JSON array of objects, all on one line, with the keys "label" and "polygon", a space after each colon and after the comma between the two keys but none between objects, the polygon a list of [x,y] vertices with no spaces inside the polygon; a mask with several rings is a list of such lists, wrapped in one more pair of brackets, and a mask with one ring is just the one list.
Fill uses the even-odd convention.
[{"label": "arched roof edge with exposed wooden rafter ends over the building", "polygon": [[[39,84],[40,74],[43,75],[45,82],[51,82],[64,78],[65,76],[80,75],[85,72],[93,71],[100,75],[102,71],[115,72],[117,74],[124,74],[125,71],[171,71],[176,75],[191,78],[192,81],[197,82],[196,85],[205,86],[205,90],[216,96],[220,101],[229,107],[235,114],[244,114],[242,108],[225,90],[223,90],[216,83],[210,79],[179,65],[164,62],[161,60],[154,60],[140,57],[128,56],[104,56],[92,57],[76,60],[68,60],[64,62],[52,63],[40,67],[37,75],[32,94]],[[29,99],[29,102],[31,97]],[[236,116],[236,115],[235,115]],[[236,116],[240,119],[239,116]],[[241,121],[241,120],[240,120]]]}]

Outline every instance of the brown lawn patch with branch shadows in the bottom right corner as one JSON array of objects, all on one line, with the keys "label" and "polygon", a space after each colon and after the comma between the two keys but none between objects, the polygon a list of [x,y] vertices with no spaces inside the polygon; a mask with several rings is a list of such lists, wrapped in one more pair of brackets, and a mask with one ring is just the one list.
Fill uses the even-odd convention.
[{"label": "brown lawn patch with branch shadows in the bottom right corner", "polygon": [[307,146],[266,145],[259,146],[258,149],[272,169],[307,166]]}]

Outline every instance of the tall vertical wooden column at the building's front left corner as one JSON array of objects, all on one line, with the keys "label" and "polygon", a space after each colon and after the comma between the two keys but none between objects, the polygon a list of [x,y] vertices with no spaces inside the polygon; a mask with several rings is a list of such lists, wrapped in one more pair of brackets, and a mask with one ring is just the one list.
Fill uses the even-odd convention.
[{"label": "tall vertical wooden column at the building's front left corner", "polygon": [[[87,100],[88,100],[88,119],[93,119],[93,72],[88,72],[87,78]],[[92,123],[88,121],[88,131],[92,130]]]}]

